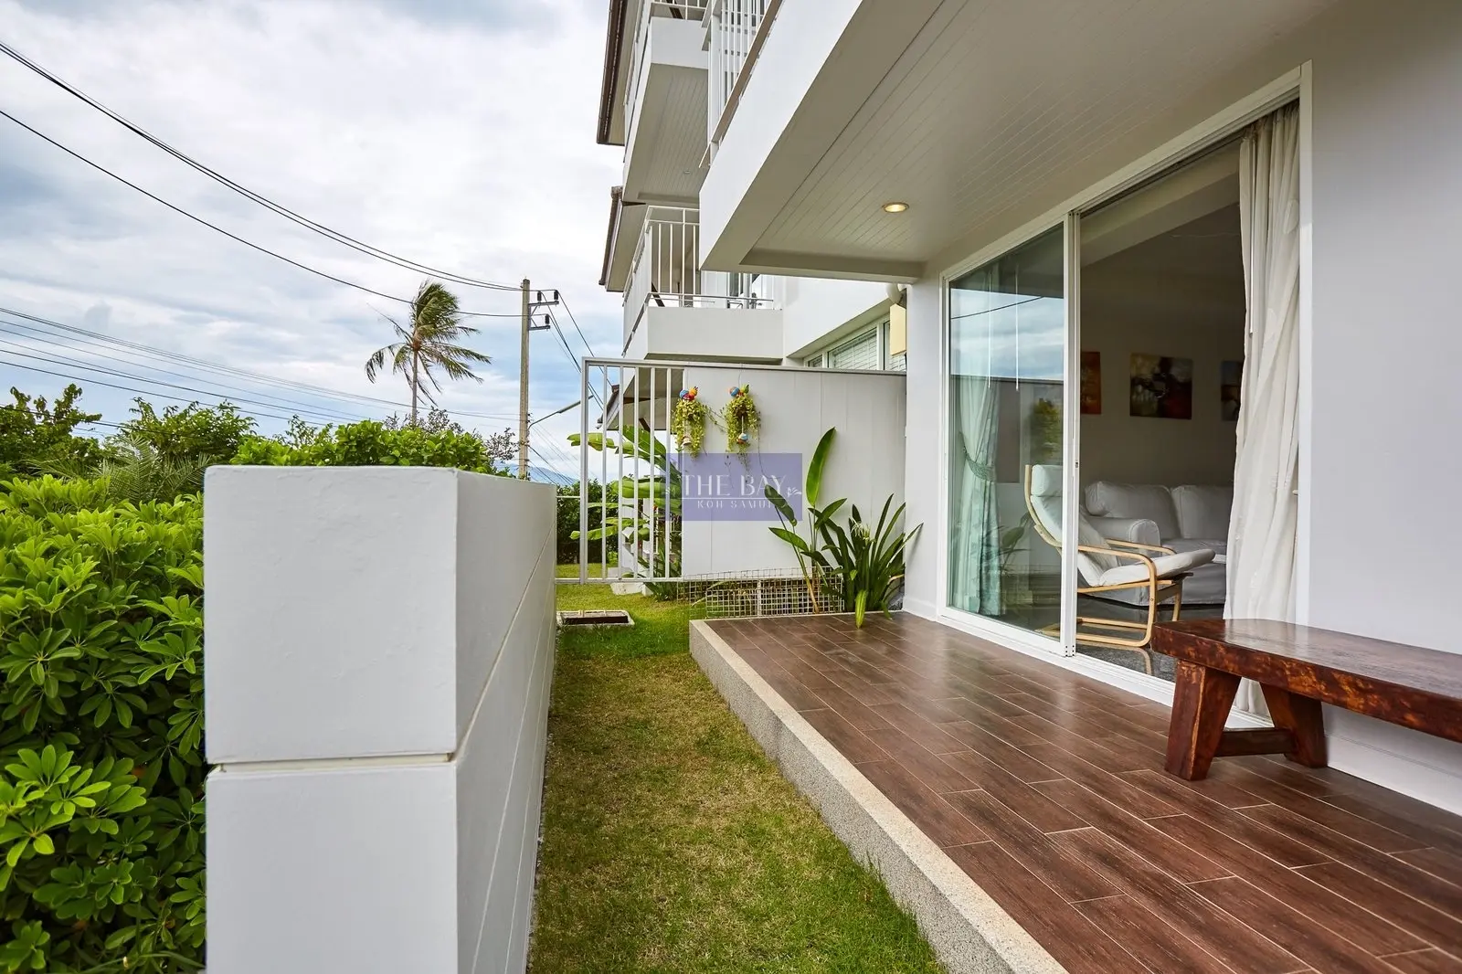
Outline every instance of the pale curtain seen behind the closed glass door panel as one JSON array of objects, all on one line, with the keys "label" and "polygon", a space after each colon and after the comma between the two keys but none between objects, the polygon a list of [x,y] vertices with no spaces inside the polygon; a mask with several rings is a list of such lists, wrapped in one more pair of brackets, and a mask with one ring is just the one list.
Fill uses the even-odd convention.
[{"label": "pale curtain seen behind the closed glass door panel", "polygon": [[1000,522],[996,512],[996,383],[985,376],[955,376],[955,450],[952,488],[955,524],[950,544],[950,603],[999,616]]}]

